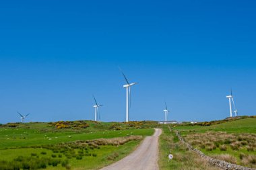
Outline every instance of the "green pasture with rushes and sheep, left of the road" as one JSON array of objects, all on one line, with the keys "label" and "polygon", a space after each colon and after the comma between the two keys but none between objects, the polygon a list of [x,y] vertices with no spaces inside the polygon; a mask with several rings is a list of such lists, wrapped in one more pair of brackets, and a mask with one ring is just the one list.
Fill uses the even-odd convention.
[{"label": "green pasture with rushes and sheep, left of the road", "polygon": [[[120,128],[113,128],[120,126]],[[60,121],[0,127],[1,169],[99,169],[154,133],[156,122]]]}]

